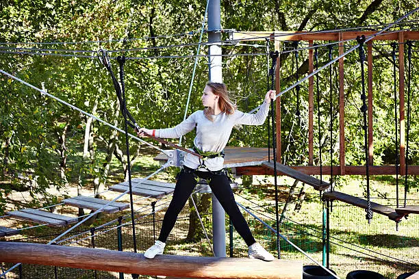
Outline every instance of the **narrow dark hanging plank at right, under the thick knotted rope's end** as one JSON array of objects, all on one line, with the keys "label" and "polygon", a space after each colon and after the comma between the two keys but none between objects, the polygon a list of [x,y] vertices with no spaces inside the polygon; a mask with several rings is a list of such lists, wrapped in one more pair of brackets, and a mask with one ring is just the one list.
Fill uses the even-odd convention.
[{"label": "narrow dark hanging plank at right, under the thick knotted rope's end", "polygon": [[[362,209],[367,208],[367,200],[357,198],[348,194],[344,194],[338,191],[326,192],[323,194],[323,197],[327,200],[340,200],[341,202],[346,202],[348,204],[355,205],[355,207],[361,207]],[[371,210],[375,213],[388,216],[390,220],[398,221],[405,216],[405,213],[397,213],[391,207],[386,207],[385,205],[377,204],[375,202],[370,202]]]}]

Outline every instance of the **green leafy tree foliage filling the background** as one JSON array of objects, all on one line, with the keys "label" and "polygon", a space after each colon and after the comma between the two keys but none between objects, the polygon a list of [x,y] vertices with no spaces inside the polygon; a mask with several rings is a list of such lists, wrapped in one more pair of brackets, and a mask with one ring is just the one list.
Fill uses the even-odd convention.
[{"label": "green leafy tree foliage filling the background", "polygon": [[[379,1],[374,1],[378,3]],[[148,49],[118,51],[120,49],[141,49],[164,45],[190,44],[199,40],[199,33],[188,36],[168,36],[149,40],[127,40],[125,42],[81,41],[134,39],[149,36],[166,36],[199,31],[205,10],[205,1],[1,1],[0,2],[0,42],[68,42],[68,44],[14,44],[8,47],[55,49],[38,51],[41,53],[92,55],[102,48],[118,55],[138,57],[129,59],[125,65],[125,85],[127,105],[131,114],[142,127],[174,127],[183,120],[193,58],[180,59],[140,59],[142,57],[194,55],[196,45],[172,47],[168,49]],[[322,30],[359,25],[390,23],[416,7],[416,1],[385,0],[377,7],[370,1],[230,1],[221,3],[222,27],[239,31],[265,30]],[[414,14],[408,20],[418,19]],[[412,24],[412,28],[414,23]],[[379,29],[380,27],[377,27]],[[204,34],[203,41],[206,40]],[[227,34],[223,34],[223,40]],[[264,44],[264,42],[259,42]],[[348,43],[353,44],[353,42]],[[289,44],[285,43],[284,47]],[[301,45],[303,46],[303,45]],[[4,45],[1,46],[1,51]],[[271,45],[271,49],[273,45]],[[86,51],[70,53],[60,50]],[[392,111],[392,66],[389,47],[374,47],[374,163],[394,163],[394,118]],[[16,51],[9,49],[8,51]],[[224,47],[224,53],[264,53],[264,47],[231,46]],[[338,54],[337,48],[333,55]],[[206,53],[201,47],[201,54]],[[296,65],[293,55],[281,61],[281,89],[294,83]],[[301,51],[299,64],[307,59]],[[320,49],[320,64],[327,61],[325,50]],[[418,102],[418,53],[414,53],[413,75],[411,79],[412,100]],[[112,59],[115,74],[118,74],[116,60]],[[267,89],[266,56],[242,56],[223,58],[223,78],[237,101],[238,109],[250,111],[260,103]],[[199,59],[188,115],[201,108],[200,96],[207,81],[207,59]],[[337,66],[333,66],[333,163],[337,163],[338,143],[338,79]],[[97,116],[122,127],[122,118],[117,116],[116,96],[110,76],[97,59],[59,57],[47,55],[14,55],[0,53],[0,68],[50,92],[58,98],[91,112],[94,101],[98,101]],[[353,53],[345,59],[346,92],[346,163],[362,164],[364,139],[359,112],[360,75],[357,55]],[[329,138],[329,73],[320,75],[320,131],[315,121],[315,163],[319,162],[318,142],[320,136],[323,149],[323,163],[331,161],[328,149]],[[398,79],[398,77],[397,77]],[[296,96],[291,91],[281,98],[283,158],[288,164],[306,164],[307,155],[307,88],[301,85],[301,122],[295,116]],[[2,187],[0,209],[5,197],[12,190],[29,190],[48,198],[47,189],[53,185],[62,187],[66,181],[77,183],[80,170],[89,175],[84,185],[92,177],[105,178],[103,152],[112,135],[111,129],[94,122],[92,135],[94,155],[88,162],[81,159],[84,142],[86,116],[62,105],[39,92],[0,77],[0,170]],[[316,112],[315,105],[315,112]],[[411,107],[411,148],[409,162],[419,160],[418,106]],[[58,138],[66,130],[65,154],[69,161],[64,170],[65,179],[60,176],[62,146]],[[183,139],[186,146],[192,146],[193,133]],[[266,124],[260,127],[234,129],[229,145],[258,146],[267,144]],[[125,138],[118,135],[118,146],[124,146]],[[124,148],[121,148],[124,149]],[[136,149],[136,146],[134,147]],[[133,149],[133,152],[135,151]],[[23,177],[25,180],[23,180]],[[36,182],[36,184],[34,184]],[[31,185],[31,183],[33,185]],[[413,183],[413,182],[412,182]],[[40,202],[40,200],[38,200]],[[40,202],[42,203],[42,202]],[[43,205],[43,203],[42,203]]]}]

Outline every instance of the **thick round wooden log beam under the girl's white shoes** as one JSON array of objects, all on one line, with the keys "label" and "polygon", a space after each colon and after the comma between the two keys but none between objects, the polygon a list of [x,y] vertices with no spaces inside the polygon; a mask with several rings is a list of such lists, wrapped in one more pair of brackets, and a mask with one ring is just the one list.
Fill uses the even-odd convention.
[{"label": "thick round wooden log beam under the girl's white shoes", "polygon": [[0,263],[29,263],[183,278],[301,279],[301,261],[264,262],[252,258],[212,258],[143,254],[112,250],[0,241]]}]

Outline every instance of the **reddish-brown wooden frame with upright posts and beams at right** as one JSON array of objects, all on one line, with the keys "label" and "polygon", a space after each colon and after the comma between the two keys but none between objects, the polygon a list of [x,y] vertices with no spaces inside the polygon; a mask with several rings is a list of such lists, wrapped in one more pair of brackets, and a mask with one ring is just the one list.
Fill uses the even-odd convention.
[{"label": "reddish-brown wooden frame with upright posts and beams at right", "polygon": [[[233,40],[266,40],[265,38],[270,38],[270,40],[275,42],[275,49],[280,51],[281,41],[284,40],[299,40],[307,41],[310,46],[313,45],[314,40],[316,41],[329,41],[335,40],[339,41],[339,55],[344,53],[344,40],[351,40],[357,38],[357,36],[373,36],[377,34],[378,31],[346,31],[346,32],[328,32],[328,33],[310,33],[310,32],[293,32],[293,31],[263,31],[263,32],[240,32],[233,34]],[[370,165],[373,165],[373,155],[374,155],[374,138],[373,138],[373,129],[372,129],[372,113],[373,113],[373,90],[372,90],[372,45],[374,41],[377,40],[395,40],[398,42],[398,65],[399,65],[399,100],[398,104],[400,107],[399,114],[399,127],[400,127],[400,165],[398,168],[398,173],[401,175],[405,174],[405,41],[406,40],[419,40],[419,31],[391,31],[383,32],[377,37],[372,38],[367,43],[367,85],[368,85],[368,161]],[[314,59],[313,59],[313,49],[307,50],[308,52],[308,62],[309,62],[309,74],[314,71]],[[340,151],[339,151],[339,165],[333,168],[334,174],[365,174],[364,166],[356,165],[346,165],[345,162],[345,120],[344,120],[344,57],[339,59],[339,142],[340,142]],[[277,65],[280,65],[280,59],[277,59]],[[293,167],[299,169],[307,174],[320,174],[320,168],[313,166],[314,161],[314,77],[309,77],[309,96],[308,96],[308,165],[307,166],[298,166]],[[280,88],[281,76],[280,69],[277,66],[276,71],[276,88]],[[281,162],[281,98],[277,98],[276,101],[276,122],[277,122],[277,161]],[[336,172],[335,172],[336,171]],[[244,167],[240,168],[238,172],[253,172],[255,173],[255,167]],[[330,167],[324,166],[322,172],[327,174],[330,173]],[[396,174],[395,166],[374,166],[372,168],[374,174]],[[418,175],[419,166],[413,165],[408,168],[409,174]],[[270,173],[268,171],[268,173]],[[243,173],[244,174],[244,173]]]}]

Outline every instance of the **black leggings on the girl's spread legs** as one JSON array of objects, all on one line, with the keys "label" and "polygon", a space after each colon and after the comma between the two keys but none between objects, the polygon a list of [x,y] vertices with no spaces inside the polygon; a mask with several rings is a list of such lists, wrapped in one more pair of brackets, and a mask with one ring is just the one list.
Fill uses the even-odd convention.
[{"label": "black leggings on the girl's spread legs", "polygon": [[177,215],[186,204],[186,201],[192,194],[196,186],[196,176],[203,179],[210,178],[210,187],[212,192],[216,196],[217,200],[223,206],[225,212],[230,216],[231,222],[233,222],[234,228],[248,246],[255,243],[255,239],[249,229],[249,226],[244,220],[244,217],[238,206],[236,200],[234,200],[233,191],[231,191],[229,178],[225,174],[211,174],[210,172],[193,171],[189,168],[181,170],[179,178],[176,183],[175,192],[173,194],[172,201],[170,202],[166,214],[164,215],[162,230],[160,230],[159,240],[166,242],[166,239],[175,226]]}]

